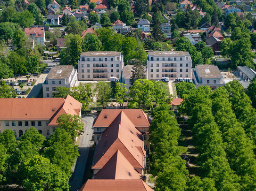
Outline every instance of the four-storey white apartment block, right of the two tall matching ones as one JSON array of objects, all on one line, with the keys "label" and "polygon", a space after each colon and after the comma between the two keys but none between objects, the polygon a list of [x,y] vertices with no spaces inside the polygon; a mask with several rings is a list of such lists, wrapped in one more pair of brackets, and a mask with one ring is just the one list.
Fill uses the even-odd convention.
[{"label": "four-storey white apartment block, right of the two tall matching ones", "polygon": [[192,60],[189,52],[183,51],[149,51],[147,59],[147,76],[150,80],[169,77],[192,78]]}]

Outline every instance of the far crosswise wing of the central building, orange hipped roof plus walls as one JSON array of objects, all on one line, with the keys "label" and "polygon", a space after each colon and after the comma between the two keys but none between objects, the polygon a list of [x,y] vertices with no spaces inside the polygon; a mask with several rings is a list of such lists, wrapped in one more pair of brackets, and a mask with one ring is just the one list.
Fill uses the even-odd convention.
[{"label": "far crosswise wing of the central building, orange hipped roof plus walls", "polygon": [[[92,127],[94,128],[94,141],[98,142],[105,132],[115,120],[123,116],[126,124],[132,124],[135,129],[139,130],[141,138],[143,136],[143,150],[149,150],[149,119],[142,109],[103,109],[95,118]],[[120,123],[119,123],[120,124]]]}]

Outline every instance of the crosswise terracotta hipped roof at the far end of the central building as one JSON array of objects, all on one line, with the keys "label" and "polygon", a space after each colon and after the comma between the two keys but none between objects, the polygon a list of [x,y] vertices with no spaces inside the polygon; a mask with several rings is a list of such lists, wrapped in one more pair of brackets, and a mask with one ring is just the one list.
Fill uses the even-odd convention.
[{"label": "crosswise terracotta hipped roof at the far end of the central building", "polygon": [[142,109],[102,109],[94,120],[93,127],[108,127],[123,111],[135,127],[149,127],[148,116]]}]

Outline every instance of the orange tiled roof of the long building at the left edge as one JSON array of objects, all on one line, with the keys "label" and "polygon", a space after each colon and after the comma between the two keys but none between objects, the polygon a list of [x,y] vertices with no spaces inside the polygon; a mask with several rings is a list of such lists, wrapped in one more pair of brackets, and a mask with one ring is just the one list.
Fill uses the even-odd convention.
[{"label": "orange tiled roof of the long building at the left edge", "polygon": [[67,95],[66,98],[0,99],[0,120],[50,120],[57,125],[60,114],[79,115],[82,104]]}]

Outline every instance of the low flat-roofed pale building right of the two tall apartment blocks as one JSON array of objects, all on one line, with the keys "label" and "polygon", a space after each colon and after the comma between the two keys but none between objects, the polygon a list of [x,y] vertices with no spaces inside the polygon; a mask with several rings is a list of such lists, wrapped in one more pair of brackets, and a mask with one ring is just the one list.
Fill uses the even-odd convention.
[{"label": "low flat-roofed pale building right of the two tall apartment blocks", "polygon": [[197,65],[193,71],[193,83],[198,88],[202,85],[208,85],[212,90],[225,84],[223,76],[215,65]]}]

